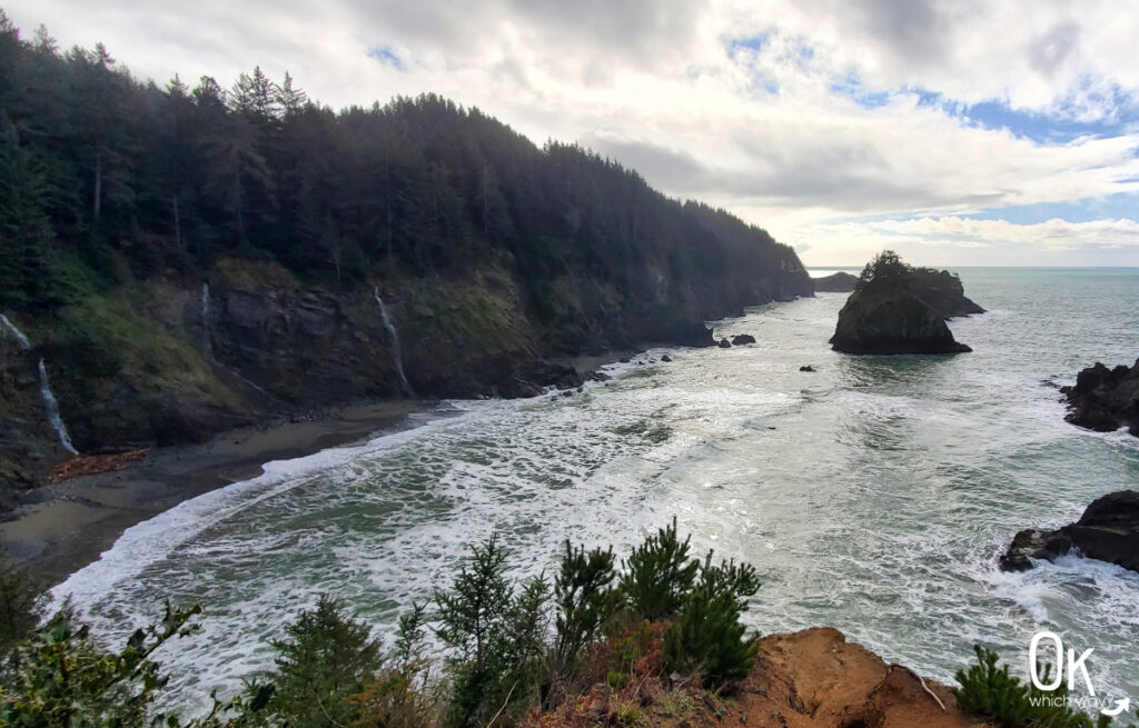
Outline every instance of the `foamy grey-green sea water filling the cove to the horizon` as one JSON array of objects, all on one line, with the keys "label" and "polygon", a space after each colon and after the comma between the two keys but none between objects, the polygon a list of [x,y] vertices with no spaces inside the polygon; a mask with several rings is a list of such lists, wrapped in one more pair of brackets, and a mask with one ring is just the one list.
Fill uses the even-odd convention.
[{"label": "foamy grey-green sea water filling the cove to the horizon", "polygon": [[831,624],[949,681],[977,642],[1023,673],[1047,628],[1095,648],[1098,692],[1139,698],[1139,573],[995,569],[1017,530],[1139,486],[1139,440],[1065,423],[1042,383],[1139,356],[1139,270],[960,274],[989,309],[951,322],[972,354],[836,354],[841,293],[755,308],[715,324],[753,346],[654,350],[581,395],[449,403],[418,429],[271,464],[131,529],[57,595],[114,638],[164,597],[203,602],[203,634],[165,655],[174,702],[192,704],[269,665],[282,620],[320,592],[386,635],[492,530],[528,574],[565,537],[620,549],[675,514],[700,548],[756,565],[763,632]]}]

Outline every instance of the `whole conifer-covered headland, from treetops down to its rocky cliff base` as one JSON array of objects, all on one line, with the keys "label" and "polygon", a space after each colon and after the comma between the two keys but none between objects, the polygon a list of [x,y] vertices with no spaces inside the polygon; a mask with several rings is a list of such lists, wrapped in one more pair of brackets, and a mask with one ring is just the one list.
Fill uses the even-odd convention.
[{"label": "whole conifer-covered headland, from treetops down to its rocky cliff base", "polygon": [[260,69],[159,88],[0,15],[0,313],[30,340],[0,332],[0,478],[59,455],[35,445],[40,358],[90,452],[532,394],[550,356],[702,344],[703,320],[810,293],[763,230],[477,109],[334,111]]}]

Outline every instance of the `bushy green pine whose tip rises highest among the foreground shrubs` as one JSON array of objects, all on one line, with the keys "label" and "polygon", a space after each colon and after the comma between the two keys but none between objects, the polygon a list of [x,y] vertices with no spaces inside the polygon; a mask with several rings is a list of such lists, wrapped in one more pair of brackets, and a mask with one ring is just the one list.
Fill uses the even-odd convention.
[{"label": "bushy green pine whose tip rises highest among the foreground shrubs", "polygon": [[621,589],[639,615],[657,621],[680,610],[699,570],[699,562],[688,557],[689,539],[677,537],[673,518],[672,526],[649,536],[622,562]]}]

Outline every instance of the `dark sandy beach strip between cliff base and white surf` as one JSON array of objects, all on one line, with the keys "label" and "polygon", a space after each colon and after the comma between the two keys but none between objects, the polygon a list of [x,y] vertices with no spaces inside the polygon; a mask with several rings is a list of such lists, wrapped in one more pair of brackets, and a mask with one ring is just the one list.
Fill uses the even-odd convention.
[{"label": "dark sandy beach strip between cliff base and white surf", "polygon": [[254,478],[270,461],[410,427],[408,415],[432,412],[437,405],[431,400],[357,405],[311,421],[223,432],[204,445],[161,448],[124,470],[39,489],[34,503],[0,523],[0,545],[11,563],[54,586],[96,561],[128,528],[182,500]]}]

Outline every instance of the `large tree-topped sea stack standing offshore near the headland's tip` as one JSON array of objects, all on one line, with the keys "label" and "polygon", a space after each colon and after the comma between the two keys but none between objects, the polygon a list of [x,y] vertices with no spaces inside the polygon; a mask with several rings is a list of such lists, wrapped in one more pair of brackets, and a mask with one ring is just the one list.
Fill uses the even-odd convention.
[{"label": "large tree-topped sea stack standing offshore near the headland's tip", "polygon": [[965,297],[956,275],[911,267],[886,250],[862,271],[830,344],[846,354],[972,351],[953,338],[945,320],[974,313],[984,309]]}]

